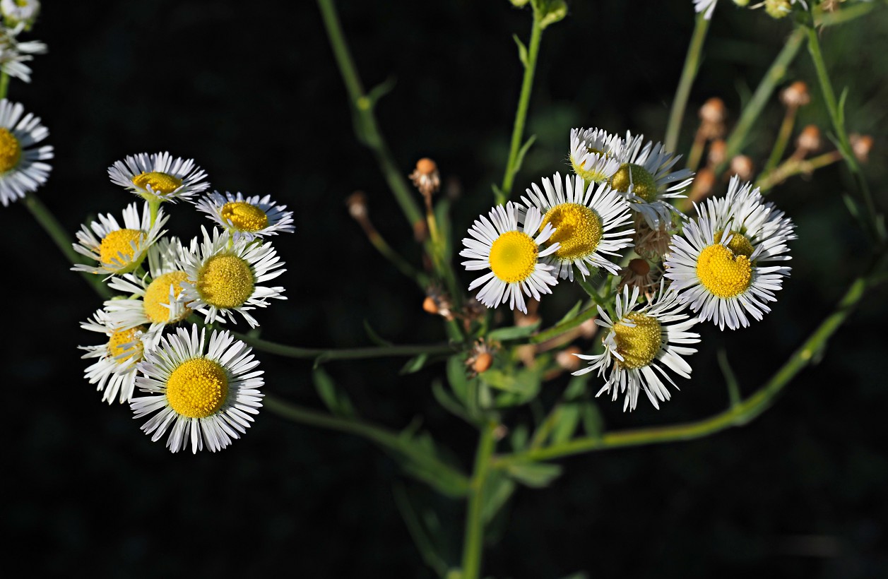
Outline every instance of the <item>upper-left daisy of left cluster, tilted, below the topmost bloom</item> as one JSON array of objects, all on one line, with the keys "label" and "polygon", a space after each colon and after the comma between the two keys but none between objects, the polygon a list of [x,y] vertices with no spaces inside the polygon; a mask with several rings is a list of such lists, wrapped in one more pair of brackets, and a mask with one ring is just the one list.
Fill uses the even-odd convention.
[{"label": "upper-left daisy of left cluster, tilted, below the topmost bloom", "polygon": [[161,227],[167,219],[169,217],[163,215],[163,210],[159,210],[152,226],[151,210],[147,203],[140,219],[137,203],[131,203],[124,209],[123,227],[110,213],[104,216],[99,213],[99,221],[93,221],[89,227],[83,225],[76,234],[77,243],[73,244],[77,253],[99,264],[81,264],[71,269],[88,274],[129,274],[145,260],[148,248],[166,233],[161,231]]}]

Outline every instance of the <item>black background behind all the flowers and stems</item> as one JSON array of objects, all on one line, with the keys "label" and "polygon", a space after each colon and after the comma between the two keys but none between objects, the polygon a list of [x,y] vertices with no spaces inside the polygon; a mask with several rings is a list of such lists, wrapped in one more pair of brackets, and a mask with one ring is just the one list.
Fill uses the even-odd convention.
[{"label": "black background behind all the flowers and stems", "polygon": [[[43,117],[56,159],[39,191],[71,234],[96,212],[119,216],[133,197],[106,168],[125,155],[169,150],[194,157],[219,190],[273,194],[295,211],[296,234],[275,240],[288,262],[289,301],[257,315],[264,337],[307,346],[367,345],[363,324],[396,343],[443,338],[420,311],[422,294],[365,241],[345,196],[369,194],[377,227],[415,263],[418,250],[369,152],[354,139],[345,89],[313,3],[44,3],[28,38],[49,44],[33,82],[10,98]],[[507,2],[339,4],[367,86],[397,85],[377,109],[408,173],[434,157],[457,178],[456,233],[492,202],[502,177],[520,67],[511,40],[527,42],[530,16]],[[719,96],[736,118],[789,35],[789,21],[721,2],[692,93],[694,109]],[[823,34],[837,90],[851,89],[852,131],[876,135],[866,171],[884,203],[888,14]],[[690,0],[571,3],[543,36],[528,118],[537,144],[516,180],[567,171],[568,131],[599,126],[662,139],[693,28]],[[805,49],[787,77],[808,81],[804,123],[828,129]],[[748,147],[770,150],[776,100]],[[760,164],[760,163],[759,163]],[[632,414],[602,400],[611,428],[691,420],[725,408],[715,363],[725,345],[750,393],[829,312],[868,246],[840,199],[842,168],[794,178],[773,201],[796,219],[794,272],[765,321],[702,329],[694,379],[660,411]],[[883,205],[884,206],[884,205]],[[394,504],[392,485],[434,501],[458,561],[464,505],[436,499],[369,443],[264,412],[218,454],[170,454],[139,432],[128,408],[108,408],[83,379],[78,328],[100,305],[28,211],[3,215],[5,549],[28,556],[32,575],[178,576],[195,573],[431,576]],[[180,204],[170,229],[206,223]],[[462,275],[468,283],[470,276]],[[579,297],[559,286],[543,304],[556,321]],[[752,424],[708,439],[629,448],[563,461],[543,491],[521,489],[501,521],[485,571],[497,577],[888,575],[885,486],[884,290],[877,290]],[[311,361],[260,354],[266,390],[320,408]],[[432,368],[400,377],[402,361],[344,361],[327,370],[362,415],[401,428],[414,416],[471,468],[475,434],[435,405]],[[560,391],[564,383],[546,385]],[[507,415],[507,422],[509,420]]]}]

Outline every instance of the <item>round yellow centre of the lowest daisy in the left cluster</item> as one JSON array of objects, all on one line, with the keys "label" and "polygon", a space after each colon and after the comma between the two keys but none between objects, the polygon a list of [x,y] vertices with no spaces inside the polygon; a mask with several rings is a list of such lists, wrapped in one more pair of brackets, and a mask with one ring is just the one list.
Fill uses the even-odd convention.
[{"label": "round yellow centre of the lowest daisy in the left cluster", "polygon": [[167,402],[180,416],[206,418],[228,398],[228,375],[217,361],[192,358],[178,365],[167,379]]}]

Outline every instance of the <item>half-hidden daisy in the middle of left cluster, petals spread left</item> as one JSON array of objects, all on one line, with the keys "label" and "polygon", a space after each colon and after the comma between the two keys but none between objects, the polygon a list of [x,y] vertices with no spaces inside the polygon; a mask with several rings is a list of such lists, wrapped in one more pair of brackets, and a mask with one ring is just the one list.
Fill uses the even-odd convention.
[{"label": "half-hidden daisy in the middle of left cluster, petals spread left", "polygon": [[113,277],[108,285],[130,294],[129,299],[111,299],[105,309],[116,329],[147,326],[142,342],[152,347],[170,324],[191,315],[183,289],[188,275],[184,271],[181,242],[164,237],[148,249],[148,275],[124,274]]}]

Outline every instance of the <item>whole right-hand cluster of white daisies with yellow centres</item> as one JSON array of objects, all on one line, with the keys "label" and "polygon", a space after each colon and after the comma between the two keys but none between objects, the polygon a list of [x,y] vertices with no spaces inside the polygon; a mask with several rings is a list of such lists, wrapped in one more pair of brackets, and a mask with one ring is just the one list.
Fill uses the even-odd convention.
[{"label": "whole right-hand cluster of white daisies with yellow centres", "polygon": [[675,385],[667,370],[690,377],[684,357],[700,341],[696,324],[738,329],[769,311],[789,275],[795,226],[736,176],[725,196],[686,216],[673,203],[694,173],[629,132],[574,129],[568,158],[573,174],[543,178],[520,203],[474,222],[460,255],[467,270],[484,274],[469,289],[480,287],[476,297],[488,307],[527,313],[526,297],[578,282],[607,333],[600,353],[576,354],[589,365],[574,374],[597,370],[599,394],[622,394],[624,409],[642,391],[659,408],[670,399],[666,384]]}]

